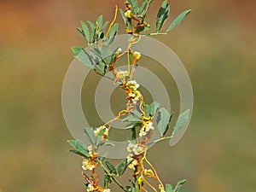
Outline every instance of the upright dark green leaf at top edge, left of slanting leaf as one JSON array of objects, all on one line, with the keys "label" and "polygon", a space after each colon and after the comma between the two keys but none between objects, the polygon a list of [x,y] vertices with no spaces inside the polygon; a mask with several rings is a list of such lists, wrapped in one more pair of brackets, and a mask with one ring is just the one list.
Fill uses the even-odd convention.
[{"label": "upright dark green leaf at top edge, left of slanting leaf", "polygon": [[170,5],[168,4],[168,1],[165,0],[162,3],[162,5],[158,11],[158,14],[156,16],[156,32],[159,32],[160,28],[166,22],[166,19],[169,16],[169,12],[170,12]]}]

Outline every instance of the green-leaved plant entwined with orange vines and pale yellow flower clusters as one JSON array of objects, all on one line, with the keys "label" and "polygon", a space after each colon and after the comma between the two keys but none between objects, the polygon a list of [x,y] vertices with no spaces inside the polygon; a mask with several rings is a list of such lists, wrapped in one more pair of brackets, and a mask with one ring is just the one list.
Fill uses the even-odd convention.
[{"label": "green-leaved plant entwined with orange vines and pale yellow flower clusters", "polygon": [[[149,32],[149,24],[146,20],[148,9],[152,6],[153,0],[143,0],[139,4],[137,0],[125,2],[125,9],[118,9],[116,6],[112,22],[102,20],[100,15],[96,22],[90,20],[85,23],[81,21],[81,27],[77,30],[86,39],[91,47],[90,52],[82,47],[73,47],[73,55],[86,67],[90,67],[96,74],[105,76],[106,73],[113,73],[113,83],[118,84],[119,88],[125,90],[126,107],[117,113],[114,119],[98,127],[89,127],[84,129],[85,137],[90,141],[87,146],[81,140],[69,140],[68,143],[73,148],[70,152],[79,154],[83,157],[82,169],[85,179],[84,185],[87,191],[111,191],[111,184],[116,183],[120,190],[125,192],[142,191],[160,191],[177,192],[186,180],[181,180],[175,187],[169,183],[162,183],[154,165],[147,159],[148,140],[154,134],[153,119],[156,120],[160,139],[154,141],[158,143],[165,139],[172,139],[173,135],[184,125],[188,123],[189,110],[181,113],[177,118],[172,135],[166,136],[169,124],[172,119],[172,113],[166,108],[160,108],[160,103],[153,102],[147,104],[143,99],[143,93],[140,91],[140,84],[133,79],[137,67],[137,61],[142,60],[143,55],[139,50],[134,50],[132,45],[138,44],[142,36],[166,35],[177,26],[189,14],[190,10],[183,11],[172,21],[172,24],[162,32],[162,26],[166,23],[170,12],[170,5],[164,0],[160,6],[155,20],[155,32]],[[129,44],[125,50],[113,48],[112,44],[118,34],[119,24],[116,23],[118,12],[125,21],[126,32],[129,34]],[[90,27],[89,27],[90,26]],[[121,57],[127,58],[127,69],[118,71],[116,63]],[[99,155],[99,148],[102,146],[112,146],[108,141],[108,133],[114,121],[122,119],[130,124],[125,129],[131,130],[131,138],[127,141],[128,156],[114,166],[106,160],[104,156]],[[104,175],[98,175],[97,169],[102,168]],[[119,178],[130,169],[131,179],[129,186],[124,186]],[[99,177],[103,177],[103,183],[99,182]],[[154,186],[157,183],[157,186]]]}]

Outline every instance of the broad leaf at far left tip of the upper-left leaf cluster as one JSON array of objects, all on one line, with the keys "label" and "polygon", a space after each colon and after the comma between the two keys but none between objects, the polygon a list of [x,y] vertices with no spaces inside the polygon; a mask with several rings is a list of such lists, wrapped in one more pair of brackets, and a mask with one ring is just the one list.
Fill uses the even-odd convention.
[{"label": "broad leaf at far left tip of the upper-left leaf cluster", "polygon": [[90,58],[90,55],[81,47],[72,47],[73,55],[78,58],[79,61],[84,63],[86,67],[94,69],[93,61]]}]

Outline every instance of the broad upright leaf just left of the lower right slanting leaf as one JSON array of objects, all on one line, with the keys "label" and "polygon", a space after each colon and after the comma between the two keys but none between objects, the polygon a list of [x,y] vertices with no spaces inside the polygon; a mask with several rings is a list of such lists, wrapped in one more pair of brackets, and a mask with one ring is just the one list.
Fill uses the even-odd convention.
[{"label": "broad upright leaf just left of the lower right slanting leaf", "polygon": [[156,119],[158,129],[160,131],[161,137],[166,134],[169,128],[169,123],[172,119],[172,115],[166,110],[166,108],[160,108],[158,117]]}]

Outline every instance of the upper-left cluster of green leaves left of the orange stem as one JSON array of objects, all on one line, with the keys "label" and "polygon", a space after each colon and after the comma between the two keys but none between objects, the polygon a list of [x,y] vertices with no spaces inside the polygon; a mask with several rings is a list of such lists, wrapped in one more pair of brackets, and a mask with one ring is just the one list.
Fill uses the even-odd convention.
[{"label": "upper-left cluster of green leaves left of the orange stem", "polygon": [[77,30],[83,35],[87,44],[93,44],[93,46],[90,46],[90,50],[78,46],[72,47],[73,55],[79,61],[101,75],[108,72],[113,61],[119,55],[119,48],[112,49],[111,47],[114,38],[118,34],[119,25],[117,23],[110,25],[108,32],[106,32],[108,22],[105,21],[103,24],[102,15],[100,15],[95,24],[90,20],[87,21],[90,26],[89,29],[84,21],[80,21],[82,27],[78,27]]}]

